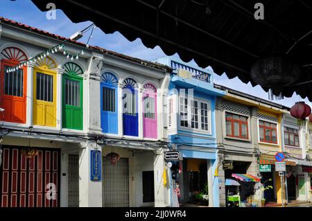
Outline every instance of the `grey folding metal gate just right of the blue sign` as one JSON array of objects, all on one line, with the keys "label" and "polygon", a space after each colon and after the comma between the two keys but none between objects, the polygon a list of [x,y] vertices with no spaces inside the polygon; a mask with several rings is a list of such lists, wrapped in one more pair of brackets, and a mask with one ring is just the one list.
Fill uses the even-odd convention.
[{"label": "grey folding metal gate just right of the blue sign", "polygon": [[121,158],[115,165],[103,157],[103,206],[129,206],[129,163]]}]

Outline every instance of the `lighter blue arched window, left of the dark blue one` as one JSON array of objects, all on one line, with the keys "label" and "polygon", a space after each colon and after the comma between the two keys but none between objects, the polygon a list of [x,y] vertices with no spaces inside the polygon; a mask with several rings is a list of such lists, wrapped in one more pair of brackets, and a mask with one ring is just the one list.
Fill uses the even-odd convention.
[{"label": "lighter blue arched window, left of the dark blue one", "polygon": [[101,75],[101,127],[104,133],[118,134],[118,80],[110,72]]}]

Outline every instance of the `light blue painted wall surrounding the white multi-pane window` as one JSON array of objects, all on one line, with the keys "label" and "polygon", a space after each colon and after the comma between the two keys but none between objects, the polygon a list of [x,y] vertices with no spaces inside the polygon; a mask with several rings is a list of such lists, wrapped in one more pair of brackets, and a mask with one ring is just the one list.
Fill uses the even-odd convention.
[{"label": "light blue painted wall surrounding the white multi-pane window", "polygon": [[[211,111],[211,134],[202,134],[200,132],[192,132],[189,130],[183,130],[179,128],[180,121],[177,119],[177,134],[168,136],[168,139],[171,143],[176,143],[177,149],[179,150],[179,146],[183,145],[182,152],[183,157],[185,158],[194,158],[194,159],[209,159],[211,166],[211,182],[212,184],[212,192],[213,192],[213,205],[219,206],[219,188],[218,188],[218,177],[214,177],[214,171],[217,166],[217,145],[216,145],[216,116],[215,116],[215,107],[216,107],[216,96],[224,96],[225,91],[220,91],[214,88],[213,85],[213,76],[214,72],[211,69],[200,69],[194,64],[187,64],[182,62],[182,60],[178,60],[176,58],[164,57],[160,58],[156,62],[166,64],[171,66],[173,62],[178,62],[182,64],[181,67],[187,66],[190,67],[191,70],[196,69],[198,71],[202,71],[210,74],[209,82],[204,82],[197,79],[189,79],[189,78],[181,78],[177,76],[177,71],[173,70],[171,74],[171,82],[169,84],[169,94],[177,94],[180,93],[180,89],[185,89],[185,95],[187,96],[187,89],[193,89],[194,98],[200,98],[204,101],[209,101],[210,103],[210,111]],[[178,109],[178,108],[177,108]],[[185,144],[187,143],[187,144]],[[190,150],[185,150],[187,147],[190,147]],[[199,148],[194,151],[191,150],[192,147]],[[202,150],[202,151],[200,151]]]}]

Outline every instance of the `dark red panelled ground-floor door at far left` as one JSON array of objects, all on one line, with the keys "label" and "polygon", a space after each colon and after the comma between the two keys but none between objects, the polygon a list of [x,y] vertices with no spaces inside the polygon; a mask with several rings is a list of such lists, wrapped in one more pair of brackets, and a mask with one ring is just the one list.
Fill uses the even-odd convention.
[{"label": "dark red panelled ground-floor door at far left", "polygon": [[22,148],[2,149],[0,207],[58,207],[60,150],[37,148],[37,156],[26,159]]}]

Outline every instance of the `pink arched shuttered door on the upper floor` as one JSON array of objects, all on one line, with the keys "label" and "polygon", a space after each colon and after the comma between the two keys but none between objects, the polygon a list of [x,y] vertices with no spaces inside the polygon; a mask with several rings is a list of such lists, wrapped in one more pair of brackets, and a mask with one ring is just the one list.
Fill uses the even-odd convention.
[{"label": "pink arched shuttered door on the upper floor", "polygon": [[144,85],[143,132],[144,137],[157,139],[157,89],[151,84]]}]

